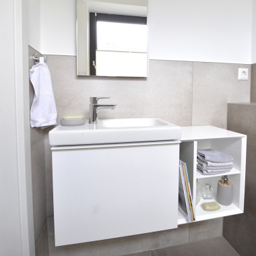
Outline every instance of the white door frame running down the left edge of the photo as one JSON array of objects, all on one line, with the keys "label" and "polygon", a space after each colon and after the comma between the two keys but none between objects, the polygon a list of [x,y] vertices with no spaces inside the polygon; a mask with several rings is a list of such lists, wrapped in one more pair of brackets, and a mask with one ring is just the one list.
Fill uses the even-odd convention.
[{"label": "white door frame running down the left edge of the photo", "polygon": [[11,256],[35,255],[26,18],[26,0],[0,2],[0,255]]}]

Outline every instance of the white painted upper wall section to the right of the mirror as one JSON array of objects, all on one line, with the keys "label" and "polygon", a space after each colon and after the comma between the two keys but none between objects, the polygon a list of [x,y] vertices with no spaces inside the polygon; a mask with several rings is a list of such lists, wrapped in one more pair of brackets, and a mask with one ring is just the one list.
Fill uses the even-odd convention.
[{"label": "white painted upper wall section to the right of the mirror", "polygon": [[252,0],[149,0],[149,58],[251,63],[251,8]]}]

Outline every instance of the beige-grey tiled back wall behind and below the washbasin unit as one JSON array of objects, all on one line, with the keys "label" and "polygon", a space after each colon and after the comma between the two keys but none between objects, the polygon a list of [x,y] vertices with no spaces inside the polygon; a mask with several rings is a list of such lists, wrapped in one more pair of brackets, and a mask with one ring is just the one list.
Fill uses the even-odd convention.
[{"label": "beige-grey tiled back wall behind and below the washbasin unit", "polygon": [[[226,127],[227,102],[248,101],[249,82],[237,82],[238,65],[150,61],[149,77],[77,77],[75,57],[48,56],[58,120],[66,113],[88,118],[90,96],[110,96],[118,104],[100,117],[160,117],[177,125]],[[209,96],[210,95],[210,96]],[[103,102],[103,100],[102,100]],[[47,216],[50,255],[123,255],[222,235],[222,219],[66,247],[54,247],[51,150],[45,133]],[[203,234],[203,236],[201,236]]]}]

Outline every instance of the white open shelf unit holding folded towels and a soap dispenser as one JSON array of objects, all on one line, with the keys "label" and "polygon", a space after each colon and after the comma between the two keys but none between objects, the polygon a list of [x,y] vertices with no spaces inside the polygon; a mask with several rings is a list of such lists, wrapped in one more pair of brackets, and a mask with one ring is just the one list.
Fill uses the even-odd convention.
[{"label": "white open shelf unit holding folded towels and a soap dispenser", "polygon": [[[193,126],[182,127],[180,159],[187,163],[189,182],[195,206],[195,221],[220,218],[233,214],[243,213],[245,197],[245,162],[247,136],[241,133],[234,133],[226,129],[213,126]],[[228,154],[234,158],[234,168],[230,172],[214,175],[203,175],[197,172],[197,149],[203,150],[211,148]],[[216,191],[218,181],[222,175],[228,175],[229,182],[233,186],[233,201],[231,205],[220,205],[220,210],[207,212],[201,207],[205,201],[216,201]],[[197,185],[204,187],[205,183],[210,183],[214,189],[214,199],[204,200],[201,198],[196,204]],[[185,224],[187,220],[179,212],[178,224]]]}]

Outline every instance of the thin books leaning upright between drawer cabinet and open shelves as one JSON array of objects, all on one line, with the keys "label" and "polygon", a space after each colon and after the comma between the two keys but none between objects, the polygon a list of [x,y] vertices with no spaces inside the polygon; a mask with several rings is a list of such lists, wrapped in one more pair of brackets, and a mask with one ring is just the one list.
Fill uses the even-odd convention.
[{"label": "thin books leaning upright between drawer cabinet and open shelves", "polygon": [[179,210],[183,213],[188,222],[195,221],[195,211],[191,188],[189,184],[189,174],[187,164],[180,160],[179,166]]}]

